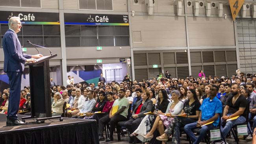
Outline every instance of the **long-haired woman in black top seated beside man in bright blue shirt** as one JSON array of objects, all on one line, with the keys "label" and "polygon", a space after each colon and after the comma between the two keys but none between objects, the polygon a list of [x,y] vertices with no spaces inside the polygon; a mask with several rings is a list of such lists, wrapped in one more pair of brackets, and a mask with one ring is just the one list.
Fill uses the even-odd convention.
[{"label": "long-haired woman in black top seated beside man in bright blue shirt", "polygon": [[173,135],[172,143],[180,143],[180,127],[184,127],[186,124],[191,124],[198,120],[200,114],[200,102],[197,98],[195,90],[187,90],[188,100],[184,103],[184,107],[181,112],[181,116],[175,116],[172,123],[169,124],[165,132],[157,140],[167,141],[168,138]]}]

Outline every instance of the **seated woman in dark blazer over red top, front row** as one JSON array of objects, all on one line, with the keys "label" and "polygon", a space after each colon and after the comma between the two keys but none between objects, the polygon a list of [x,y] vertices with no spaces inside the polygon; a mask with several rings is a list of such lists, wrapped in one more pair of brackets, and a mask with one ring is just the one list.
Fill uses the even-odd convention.
[{"label": "seated woman in dark blazer over red top, front row", "polygon": [[[138,89],[136,89],[138,90]],[[140,89],[139,89],[140,90]],[[149,99],[150,93],[147,90],[143,90],[141,94],[141,100],[136,102],[136,106],[134,111],[132,112],[132,117],[130,120],[128,120],[124,125],[125,127],[130,131],[130,133],[133,133],[143,118],[146,116],[144,113],[150,112],[153,109],[153,102]],[[134,138],[135,135],[130,135],[130,141],[129,143],[138,143],[139,140],[137,138]],[[139,142],[140,143],[140,142]]]}]

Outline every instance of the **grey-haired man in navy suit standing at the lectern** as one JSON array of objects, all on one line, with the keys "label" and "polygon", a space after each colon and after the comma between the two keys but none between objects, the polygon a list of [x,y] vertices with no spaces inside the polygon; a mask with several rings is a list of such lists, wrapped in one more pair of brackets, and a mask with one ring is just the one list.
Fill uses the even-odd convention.
[{"label": "grey-haired man in navy suit standing at the lectern", "polygon": [[41,54],[27,55],[23,54],[22,48],[17,37],[20,31],[21,22],[19,17],[11,17],[8,22],[9,30],[6,31],[3,38],[4,49],[4,72],[9,77],[10,94],[7,111],[7,126],[24,125],[17,118],[20,103],[21,75],[24,70],[24,63],[36,62],[36,58],[43,57]]}]

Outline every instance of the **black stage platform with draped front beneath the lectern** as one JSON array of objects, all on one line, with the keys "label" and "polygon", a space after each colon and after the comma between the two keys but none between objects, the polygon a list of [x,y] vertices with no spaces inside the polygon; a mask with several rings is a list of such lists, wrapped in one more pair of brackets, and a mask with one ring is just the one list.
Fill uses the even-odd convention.
[{"label": "black stage platform with draped front beneath the lectern", "polygon": [[[24,115],[18,115],[19,119]],[[6,114],[0,114],[0,144],[99,144],[95,120],[63,118],[37,124],[27,119],[24,126],[6,126]]]}]

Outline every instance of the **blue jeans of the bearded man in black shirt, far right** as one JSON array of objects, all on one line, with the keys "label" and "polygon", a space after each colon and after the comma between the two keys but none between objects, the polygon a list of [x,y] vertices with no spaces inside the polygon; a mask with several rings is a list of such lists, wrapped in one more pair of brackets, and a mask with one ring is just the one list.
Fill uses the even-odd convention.
[{"label": "blue jeans of the bearded man in black shirt, far right", "polygon": [[[227,115],[229,116],[231,114],[227,114]],[[246,118],[244,116],[239,116],[236,120],[231,120],[228,122],[224,122],[223,119],[221,119],[221,131],[222,131],[223,137],[226,137],[226,135],[230,132],[230,130],[234,125],[242,124],[245,121],[246,121]]]}]

